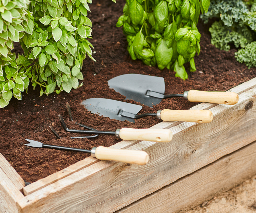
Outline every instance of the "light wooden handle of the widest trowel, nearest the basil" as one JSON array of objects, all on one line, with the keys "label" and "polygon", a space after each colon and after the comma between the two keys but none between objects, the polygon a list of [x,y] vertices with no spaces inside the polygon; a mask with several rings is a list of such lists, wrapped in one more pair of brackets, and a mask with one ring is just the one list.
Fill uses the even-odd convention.
[{"label": "light wooden handle of the widest trowel, nearest the basil", "polygon": [[219,104],[236,104],[239,100],[238,94],[234,92],[205,92],[198,90],[188,91],[190,102],[207,102]]}]

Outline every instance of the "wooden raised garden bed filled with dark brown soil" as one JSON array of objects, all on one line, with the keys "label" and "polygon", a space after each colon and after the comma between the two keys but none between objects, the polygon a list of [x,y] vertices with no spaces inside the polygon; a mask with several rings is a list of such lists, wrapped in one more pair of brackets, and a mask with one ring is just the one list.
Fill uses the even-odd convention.
[{"label": "wooden raised garden bed filled with dark brown soil", "polygon": [[[178,180],[179,178],[255,140],[253,117],[255,107],[253,104],[250,105],[250,101],[254,102],[256,92],[252,89],[256,85],[254,79],[231,89],[240,94],[239,103],[236,105],[202,103],[195,106],[193,109],[211,109],[213,112],[213,121],[206,124],[159,123],[155,118],[140,119],[133,124],[93,115],[79,105],[80,101],[87,98],[125,100],[124,96],[110,90],[106,82],[114,76],[125,73],[164,77],[166,94],[181,93],[190,89],[225,91],[256,76],[255,69],[248,70],[245,65],[235,62],[233,55],[236,50],[223,52],[212,46],[207,26],[203,26],[202,23],[198,25],[202,34],[202,52],[195,58],[198,71],[189,73],[189,80],[183,81],[175,78],[174,73],[168,70],[161,72],[156,67],[148,67],[141,62],[132,61],[126,52],[125,36],[115,27],[122,13],[123,4],[123,1],[117,4],[95,1],[91,6],[93,16],[90,18],[94,26],[92,43],[95,47],[97,63],[90,59],[85,60],[83,66],[85,79],[82,87],[71,91],[70,94],[51,94],[42,97],[38,97],[39,91],[36,90],[24,94],[22,101],[12,100],[8,107],[0,109],[0,152],[3,155],[0,164],[2,212],[114,212],[139,199],[141,200],[120,211],[134,212],[136,208],[138,210],[145,205],[150,212],[153,209],[153,206],[149,205],[152,202],[151,197],[158,197],[160,203],[159,199],[164,190],[173,196],[175,196],[173,192],[180,196],[172,187],[182,180],[187,180],[188,176]],[[71,134],[64,132],[57,119],[57,115],[62,114],[65,120],[68,120],[66,102],[70,103],[74,118],[87,126],[113,131],[121,127],[149,128],[155,125],[153,128],[171,129],[173,140],[169,143],[120,141],[109,136],[100,136],[93,140],[71,140],[69,139]],[[153,109],[144,106],[141,113],[156,112],[164,108],[189,109],[194,104],[180,99],[163,100]],[[72,122],[67,124],[69,127],[74,127]],[[53,125],[63,139],[57,140],[50,132],[49,125]],[[100,161],[92,157],[85,158],[85,154],[79,153],[27,149],[23,146],[25,138],[77,148],[114,144],[113,148],[144,150],[150,155],[150,161],[144,166],[137,166]],[[255,148],[251,145],[247,150],[253,152]],[[242,158],[249,154],[241,151],[238,155]],[[241,164],[237,168],[247,167]],[[253,172],[254,169],[252,167],[250,171]],[[220,174],[224,172],[223,170]],[[250,175],[250,172],[245,174]],[[24,187],[22,178],[34,183]],[[178,182],[175,182],[176,180]],[[173,182],[175,183],[171,184]],[[159,189],[162,191],[157,191]],[[149,196],[145,197],[146,195]],[[185,204],[173,205],[178,206],[175,207],[176,209],[171,207],[176,211]]]}]

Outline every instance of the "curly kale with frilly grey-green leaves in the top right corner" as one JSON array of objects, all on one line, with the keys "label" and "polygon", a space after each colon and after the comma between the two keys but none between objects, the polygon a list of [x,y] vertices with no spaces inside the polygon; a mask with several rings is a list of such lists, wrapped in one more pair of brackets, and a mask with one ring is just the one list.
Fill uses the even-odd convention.
[{"label": "curly kale with frilly grey-green leaves in the top right corner", "polygon": [[[256,57],[252,52],[254,48],[251,45],[251,42],[256,40],[255,0],[213,0],[210,2],[208,12],[201,17],[205,23],[210,18],[220,18],[220,21],[214,22],[209,29],[212,44],[226,51],[230,49],[230,44],[234,44],[237,48],[245,48],[236,54],[237,61],[245,62],[249,67],[256,65],[254,63]],[[252,60],[252,57],[255,59]]]}]

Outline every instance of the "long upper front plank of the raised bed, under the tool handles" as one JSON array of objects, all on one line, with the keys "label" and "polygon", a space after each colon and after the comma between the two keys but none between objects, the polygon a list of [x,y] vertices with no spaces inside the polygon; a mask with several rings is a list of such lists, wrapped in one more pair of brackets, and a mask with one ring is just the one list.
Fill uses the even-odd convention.
[{"label": "long upper front plank of the raised bed, under the tool handles", "polygon": [[172,127],[173,140],[169,143],[142,141],[129,147],[150,155],[144,166],[99,161],[26,196],[18,205],[23,212],[121,209],[255,141],[256,106],[245,110],[249,101],[255,102],[255,96],[254,88],[240,94],[236,105],[211,108],[211,123],[183,122]]}]

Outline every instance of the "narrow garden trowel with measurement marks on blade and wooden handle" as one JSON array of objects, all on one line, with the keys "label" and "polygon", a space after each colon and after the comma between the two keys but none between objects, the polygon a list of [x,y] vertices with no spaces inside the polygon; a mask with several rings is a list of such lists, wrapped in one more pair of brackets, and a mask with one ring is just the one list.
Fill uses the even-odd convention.
[{"label": "narrow garden trowel with measurement marks on blade and wooden handle", "polygon": [[120,121],[128,120],[135,122],[134,119],[139,119],[147,116],[154,116],[163,121],[187,121],[197,123],[209,123],[213,119],[213,114],[210,110],[159,110],[156,113],[145,113],[137,115],[142,109],[142,106],[103,98],[86,99],[80,104],[94,114],[103,115],[111,119]]}]

